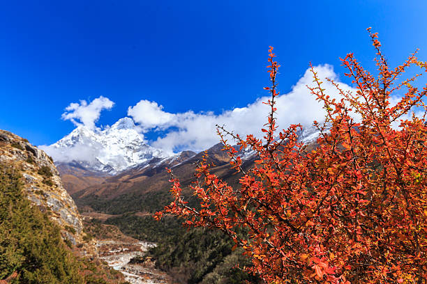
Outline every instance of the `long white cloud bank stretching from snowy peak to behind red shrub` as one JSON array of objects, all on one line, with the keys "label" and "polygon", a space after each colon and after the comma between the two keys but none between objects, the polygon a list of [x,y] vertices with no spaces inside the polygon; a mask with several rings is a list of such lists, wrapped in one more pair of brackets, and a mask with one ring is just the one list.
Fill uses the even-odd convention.
[{"label": "long white cloud bank stretching from snowy peak to behind red shrub", "polygon": [[[325,77],[338,81],[344,90],[353,90],[347,84],[339,82],[331,65],[319,65],[315,71],[317,76],[324,81],[322,86],[330,97],[338,98],[338,91],[324,79]],[[310,70],[306,70],[304,76],[292,87],[290,93],[277,97],[276,117],[280,129],[295,123],[307,126],[311,125],[313,120],[324,118],[323,105],[315,100],[314,95],[310,94],[307,85],[313,86],[313,74]],[[241,136],[254,134],[261,137],[260,129],[267,123],[269,113],[269,106],[262,102],[266,102],[268,98],[267,96],[261,97],[246,107],[223,111],[219,115],[211,112],[194,113],[193,111],[168,113],[156,102],[142,100],[135,107],[129,107],[128,116],[131,116],[140,125],[142,132],[167,130],[164,137],[153,141],[154,147],[167,152],[187,149],[199,151],[218,143],[216,124],[225,125],[227,129]],[[169,129],[170,127],[174,128]]]}]

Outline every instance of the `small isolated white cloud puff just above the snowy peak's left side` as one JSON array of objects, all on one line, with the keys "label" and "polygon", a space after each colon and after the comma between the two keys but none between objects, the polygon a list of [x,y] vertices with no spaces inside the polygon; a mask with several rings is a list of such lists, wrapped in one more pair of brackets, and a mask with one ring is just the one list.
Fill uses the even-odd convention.
[{"label": "small isolated white cloud puff just above the snowy peak's left side", "polygon": [[99,119],[100,112],[103,109],[111,109],[113,105],[114,102],[103,96],[96,98],[89,104],[87,101],[81,100],[80,103],[73,102],[66,107],[61,118],[70,120],[76,126],[84,125],[89,129],[95,129],[95,123]]}]

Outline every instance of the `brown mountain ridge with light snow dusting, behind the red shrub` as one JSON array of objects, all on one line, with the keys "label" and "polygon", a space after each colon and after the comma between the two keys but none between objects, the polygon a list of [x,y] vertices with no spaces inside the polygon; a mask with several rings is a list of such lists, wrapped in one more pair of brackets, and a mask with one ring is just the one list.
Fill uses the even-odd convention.
[{"label": "brown mountain ridge with light snow dusting, behind the red shrub", "polygon": [[[299,141],[313,145],[319,132],[315,127],[307,127],[297,132]],[[237,146],[235,146],[237,148]],[[220,178],[227,180],[232,186],[238,185],[239,174],[230,168],[230,157],[223,151],[223,145],[218,143],[200,153],[181,152],[169,158],[153,158],[142,164],[127,168],[116,175],[103,178],[102,182],[94,182],[89,187],[72,189],[73,196],[80,210],[104,212],[110,214],[123,214],[127,211],[155,212],[170,203],[170,179],[165,168],[172,168],[174,175],[180,178],[181,185],[186,187],[194,181],[195,163],[203,159],[207,152],[208,159],[216,166],[211,168]],[[239,152],[244,168],[254,166],[257,159],[256,152],[246,148]],[[59,166],[61,171],[61,166]],[[61,172],[63,180],[67,180],[65,173]],[[71,187],[69,190],[71,190]]]}]

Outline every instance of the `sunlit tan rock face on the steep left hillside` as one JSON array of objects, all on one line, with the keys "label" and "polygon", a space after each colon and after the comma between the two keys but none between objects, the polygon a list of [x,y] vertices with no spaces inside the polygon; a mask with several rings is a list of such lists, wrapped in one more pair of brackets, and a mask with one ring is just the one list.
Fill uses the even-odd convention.
[{"label": "sunlit tan rock face on the steep left hillside", "polygon": [[48,212],[61,227],[63,237],[72,244],[82,243],[82,219],[51,157],[27,139],[0,130],[0,163],[20,171],[28,199]]}]

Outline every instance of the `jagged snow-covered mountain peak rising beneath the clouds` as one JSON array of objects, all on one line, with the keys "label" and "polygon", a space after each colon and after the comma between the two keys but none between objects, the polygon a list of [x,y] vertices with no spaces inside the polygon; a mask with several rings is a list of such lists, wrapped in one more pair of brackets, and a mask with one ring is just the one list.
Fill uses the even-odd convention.
[{"label": "jagged snow-covered mountain peak rising beneath the clouds", "polygon": [[80,125],[57,143],[42,148],[58,164],[72,163],[112,174],[153,158],[170,157],[144,143],[131,118],[121,118],[102,131]]}]

